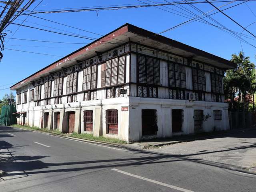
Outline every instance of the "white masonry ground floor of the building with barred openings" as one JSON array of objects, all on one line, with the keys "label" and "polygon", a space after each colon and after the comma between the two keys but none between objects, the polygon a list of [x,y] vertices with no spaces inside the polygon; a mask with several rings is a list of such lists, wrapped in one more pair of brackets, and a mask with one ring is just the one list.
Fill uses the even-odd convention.
[{"label": "white masonry ground floor of the building with barred openings", "polygon": [[29,107],[17,123],[127,142],[228,130],[228,104],[121,97]]}]

